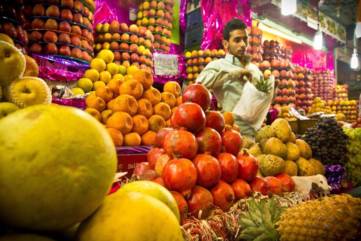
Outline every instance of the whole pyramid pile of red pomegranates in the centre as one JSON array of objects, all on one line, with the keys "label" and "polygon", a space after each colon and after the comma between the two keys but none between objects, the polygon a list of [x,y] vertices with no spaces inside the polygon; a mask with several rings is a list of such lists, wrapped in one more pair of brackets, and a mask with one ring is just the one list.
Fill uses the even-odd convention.
[{"label": "whole pyramid pile of red pomegranates in the centre", "polygon": [[293,191],[286,188],[292,180],[286,174],[258,176],[257,159],[242,150],[242,136],[225,125],[222,114],[208,110],[210,100],[200,83],[186,87],[171,126],[158,131],[148,162],[133,172],[177,195],[181,223],[187,214],[202,219],[217,208],[227,212],[254,191],[279,196]]}]

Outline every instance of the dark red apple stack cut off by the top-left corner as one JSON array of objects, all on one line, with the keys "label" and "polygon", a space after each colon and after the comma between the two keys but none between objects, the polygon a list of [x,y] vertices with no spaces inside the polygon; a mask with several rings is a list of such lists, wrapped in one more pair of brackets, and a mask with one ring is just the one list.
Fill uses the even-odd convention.
[{"label": "dark red apple stack cut off by the top-left corner", "polygon": [[24,46],[29,42],[27,33],[23,30],[26,19],[22,6],[14,1],[1,1],[0,3],[0,33],[13,39],[15,47],[26,54]]}]

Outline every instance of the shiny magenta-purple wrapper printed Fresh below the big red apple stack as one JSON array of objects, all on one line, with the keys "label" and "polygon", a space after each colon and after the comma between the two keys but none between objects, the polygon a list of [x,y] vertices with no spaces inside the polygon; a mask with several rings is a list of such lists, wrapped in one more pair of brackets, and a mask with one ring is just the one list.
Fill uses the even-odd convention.
[{"label": "shiny magenta-purple wrapper printed Fresh below the big red apple stack", "polygon": [[62,57],[29,52],[39,65],[39,78],[60,81],[74,81],[83,77],[90,64]]}]

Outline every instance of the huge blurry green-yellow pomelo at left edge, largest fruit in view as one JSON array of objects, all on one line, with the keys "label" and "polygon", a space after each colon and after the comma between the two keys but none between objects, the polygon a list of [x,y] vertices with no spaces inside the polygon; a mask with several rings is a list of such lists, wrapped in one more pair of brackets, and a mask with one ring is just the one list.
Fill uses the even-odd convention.
[{"label": "huge blurry green-yellow pomelo at left edge, largest fruit in view", "polygon": [[31,106],[0,119],[0,223],[55,231],[90,216],[117,168],[104,127],[73,107]]}]

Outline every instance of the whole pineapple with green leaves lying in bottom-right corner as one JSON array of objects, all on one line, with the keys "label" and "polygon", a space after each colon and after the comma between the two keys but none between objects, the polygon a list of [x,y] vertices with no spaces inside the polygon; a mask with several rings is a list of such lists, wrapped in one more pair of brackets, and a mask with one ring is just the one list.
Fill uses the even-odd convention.
[{"label": "whole pineapple with green leaves lying in bottom-right corner", "polygon": [[245,240],[361,240],[361,199],[348,194],[331,195],[277,208],[278,200],[249,203],[242,212],[239,239]]}]

